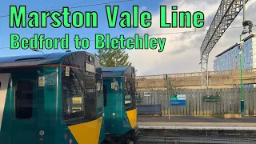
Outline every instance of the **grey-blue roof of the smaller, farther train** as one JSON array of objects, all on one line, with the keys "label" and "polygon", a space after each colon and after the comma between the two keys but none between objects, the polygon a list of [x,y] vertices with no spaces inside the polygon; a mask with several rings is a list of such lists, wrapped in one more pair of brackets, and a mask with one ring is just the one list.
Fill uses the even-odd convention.
[{"label": "grey-blue roof of the smaller, farther train", "polygon": [[103,77],[131,77],[132,73],[135,73],[133,66],[102,67]]}]

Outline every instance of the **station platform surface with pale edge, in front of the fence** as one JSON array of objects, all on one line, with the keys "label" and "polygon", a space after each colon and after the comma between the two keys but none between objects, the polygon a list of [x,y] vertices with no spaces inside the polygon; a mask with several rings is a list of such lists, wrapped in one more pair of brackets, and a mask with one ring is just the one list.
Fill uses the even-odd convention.
[{"label": "station platform surface with pale edge, in front of the fence", "polygon": [[138,127],[144,129],[191,129],[191,130],[256,130],[256,117],[224,119],[213,117],[138,116]]}]

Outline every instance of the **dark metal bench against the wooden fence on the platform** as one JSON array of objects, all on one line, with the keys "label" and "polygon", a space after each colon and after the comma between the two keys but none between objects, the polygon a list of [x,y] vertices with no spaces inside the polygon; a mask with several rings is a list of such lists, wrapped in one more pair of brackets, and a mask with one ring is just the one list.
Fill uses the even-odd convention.
[{"label": "dark metal bench against the wooden fence on the platform", "polygon": [[137,105],[138,115],[147,114],[158,114],[162,116],[162,106],[161,105]]}]

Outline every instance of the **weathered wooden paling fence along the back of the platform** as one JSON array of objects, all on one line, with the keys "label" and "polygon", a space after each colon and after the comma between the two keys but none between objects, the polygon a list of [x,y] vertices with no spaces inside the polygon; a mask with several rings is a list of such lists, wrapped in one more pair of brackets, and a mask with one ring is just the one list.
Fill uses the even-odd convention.
[{"label": "weathered wooden paling fence along the back of the platform", "polygon": [[[204,90],[205,91],[205,90]],[[144,96],[149,92],[150,96]],[[210,89],[209,95],[218,95],[218,102],[206,102],[203,96],[206,92],[202,90],[170,90],[170,94],[186,94],[186,106],[170,106],[170,115],[222,115],[241,114],[240,100],[241,90],[232,89]],[[161,105],[162,115],[168,115],[168,104],[166,90],[138,90],[138,97],[142,102],[137,105]],[[244,89],[245,115],[256,115],[256,88]]]}]

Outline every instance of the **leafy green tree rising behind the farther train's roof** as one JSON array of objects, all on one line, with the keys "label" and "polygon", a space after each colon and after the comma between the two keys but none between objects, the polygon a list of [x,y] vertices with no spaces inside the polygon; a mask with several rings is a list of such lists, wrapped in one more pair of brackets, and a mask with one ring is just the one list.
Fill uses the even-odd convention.
[{"label": "leafy green tree rising behind the farther train's roof", "polygon": [[129,55],[125,50],[99,49],[97,52],[96,58],[103,67],[131,66],[131,62],[128,61]]}]

